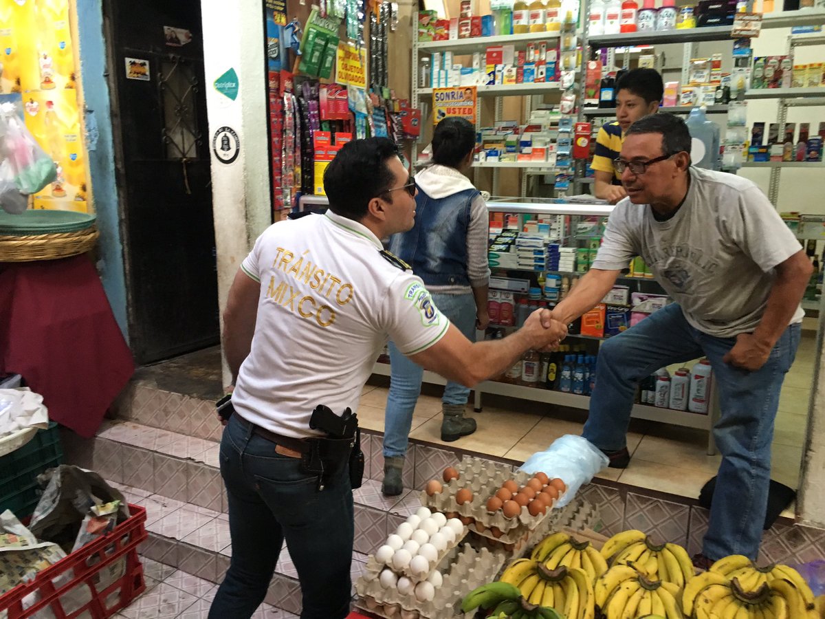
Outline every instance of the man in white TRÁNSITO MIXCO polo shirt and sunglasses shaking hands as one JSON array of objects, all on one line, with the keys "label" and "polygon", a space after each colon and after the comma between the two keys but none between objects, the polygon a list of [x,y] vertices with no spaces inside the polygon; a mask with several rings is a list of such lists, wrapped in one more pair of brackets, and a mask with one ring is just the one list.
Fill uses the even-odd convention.
[{"label": "man in white TR\u00c1NSITO MIXCO polo shirt and sunglasses shaking hands", "polygon": [[347,466],[323,481],[306,471],[318,404],[357,411],[381,347],[474,385],[530,349],[550,350],[565,326],[535,312],[510,337],[470,343],[422,281],[380,239],[413,226],[415,183],[385,138],[346,144],[324,175],[326,215],[271,225],[243,261],[224,312],[235,413],[220,468],[229,498],[232,563],[210,617],[250,617],[286,540],[304,619],[347,617],[352,491]]}]

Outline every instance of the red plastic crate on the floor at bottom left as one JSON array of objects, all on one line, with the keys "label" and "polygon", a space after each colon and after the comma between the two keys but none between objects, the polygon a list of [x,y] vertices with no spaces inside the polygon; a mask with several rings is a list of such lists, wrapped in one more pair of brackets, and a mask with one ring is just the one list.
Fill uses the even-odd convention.
[{"label": "red plastic crate on the floor at bottom left", "polygon": [[[129,606],[146,590],[144,567],[140,563],[137,547],[147,537],[144,527],[146,509],[130,505],[129,511],[132,515],[111,533],[50,565],[38,573],[31,583],[17,585],[0,596],[0,612],[7,611],[8,619],[22,619],[50,607],[56,619],[72,619],[84,613],[85,617],[92,619],[106,619]],[[102,570],[124,557],[124,574],[101,588],[99,579]],[[62,583],[67,575],[70,579]],[[59,584],[55,585],[55,580]],[[70,591],[81,591],[86,601],[64,607],[70,602],[64,595]],[[23,599],[34,592],[40,593],[40,599],[24,610]]]}]

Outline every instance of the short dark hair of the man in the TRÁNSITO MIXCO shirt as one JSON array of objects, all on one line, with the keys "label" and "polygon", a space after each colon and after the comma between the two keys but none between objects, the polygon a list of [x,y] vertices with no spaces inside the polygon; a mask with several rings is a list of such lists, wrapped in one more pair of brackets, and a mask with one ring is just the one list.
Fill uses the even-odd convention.
[{"label": "short dark hair of the man in the TR\u00c1NSITO MIXCO shirt", "polygon": [[344,144],[323,173],[329,210],[350,220],[362,220],[370,200],[393,186],[395,176],[387,160],[397,155],[398,145],[389,138],[355,139]]}]

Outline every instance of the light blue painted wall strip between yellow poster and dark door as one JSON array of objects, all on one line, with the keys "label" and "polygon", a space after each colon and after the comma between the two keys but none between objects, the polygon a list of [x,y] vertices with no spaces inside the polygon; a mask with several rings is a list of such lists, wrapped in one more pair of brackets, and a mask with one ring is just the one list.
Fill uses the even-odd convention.
[{"label": "light blue painted wall strip between yellow poster and dark door", "polygon": [[106,40],[101,0],[76,0],[80,43],[80,77],[86,100],[87,149],[92,196],[100,239],[98,271],[117,324],[129,341],[120,205],[115,186],[109,86],[106,82]]}]

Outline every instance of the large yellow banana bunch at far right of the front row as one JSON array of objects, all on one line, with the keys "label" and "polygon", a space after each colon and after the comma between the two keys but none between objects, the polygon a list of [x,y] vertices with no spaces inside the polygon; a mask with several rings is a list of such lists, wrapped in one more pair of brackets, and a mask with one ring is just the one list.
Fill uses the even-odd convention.
[{"label": "large yellow banana bunch at far right of the front row", "polygon": [[[785,568],[782,574],[789,574],[787,570],[791,570],[795,576],[790,574],[791,578],[769,577],[755,589],[746,588],[738,578],[728,579],[724,574],[714,570],[695,576],[687,584],[682,595],[682,607],[686,617],[818,619],[819,614],[808,584],[795,570],[787,566],[782,567]],[[748,573],[746,576],[752,579],[752,574]]]}]

